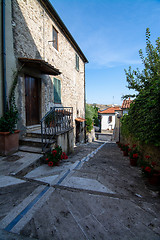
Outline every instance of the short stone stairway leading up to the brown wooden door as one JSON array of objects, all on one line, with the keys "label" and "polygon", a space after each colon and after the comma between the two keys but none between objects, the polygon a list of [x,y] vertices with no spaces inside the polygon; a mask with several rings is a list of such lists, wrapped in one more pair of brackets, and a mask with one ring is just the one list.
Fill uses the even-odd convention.
[{"label": "short stone stairway leading up to the brown wooden door", "polygon": [[[52,144],[55,140],[52,141]],[[27,132],[19,141],[19,150],[30,153],[42,153],[42,139],[40,125],[27,127]]]}]

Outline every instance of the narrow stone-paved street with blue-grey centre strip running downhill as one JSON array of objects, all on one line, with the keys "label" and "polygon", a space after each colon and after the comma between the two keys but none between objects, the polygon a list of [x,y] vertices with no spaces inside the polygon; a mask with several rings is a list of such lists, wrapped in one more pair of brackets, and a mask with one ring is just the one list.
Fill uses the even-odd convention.
[{"label": "narrow stone-paved street with blue-grey centre strip running downhill", "polygon": [[160,239],[159,191],[115,143],[81,145],[58,167],[11,178],[0,188],[0,239]]}]

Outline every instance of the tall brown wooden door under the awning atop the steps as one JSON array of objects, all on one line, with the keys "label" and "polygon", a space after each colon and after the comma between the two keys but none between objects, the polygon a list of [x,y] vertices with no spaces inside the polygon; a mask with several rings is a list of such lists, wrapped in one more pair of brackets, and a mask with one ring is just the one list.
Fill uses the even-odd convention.
[{"label": "tall brown wooden door under the awning atop the steps", "polygon": [[25,77],[26,125],[40,122],[40,79]]}]

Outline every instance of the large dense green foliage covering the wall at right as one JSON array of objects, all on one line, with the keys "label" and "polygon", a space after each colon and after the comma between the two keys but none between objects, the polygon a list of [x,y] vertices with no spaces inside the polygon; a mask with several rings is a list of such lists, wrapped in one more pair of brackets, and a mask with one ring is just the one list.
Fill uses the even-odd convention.
[{"label": "large dense green foliage covering the wall at right", "polygon": [[[122,119],[122,134],[133,136],[145,143],[160,145],[160,38],[156,47],[150,42],[150,31],[146,30],[146,57],[139,51],[144,69],[126,72],[128,88],[137,91],[128,115]],[[126,97],[126,96],[124,96]]]}]

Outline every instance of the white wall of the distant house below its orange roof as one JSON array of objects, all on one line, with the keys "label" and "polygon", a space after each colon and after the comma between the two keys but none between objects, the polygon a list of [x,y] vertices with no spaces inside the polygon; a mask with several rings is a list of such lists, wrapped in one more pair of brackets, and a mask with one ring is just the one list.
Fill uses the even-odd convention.
[{"label": "white wall of the distant house below its orange roof", "polygon": [[[115,114],[114,113],[104,113],[101,114],[101,130],[112,130],[115,126]],[[112,117],[112,121],[110,121],[110,117]]]}]

